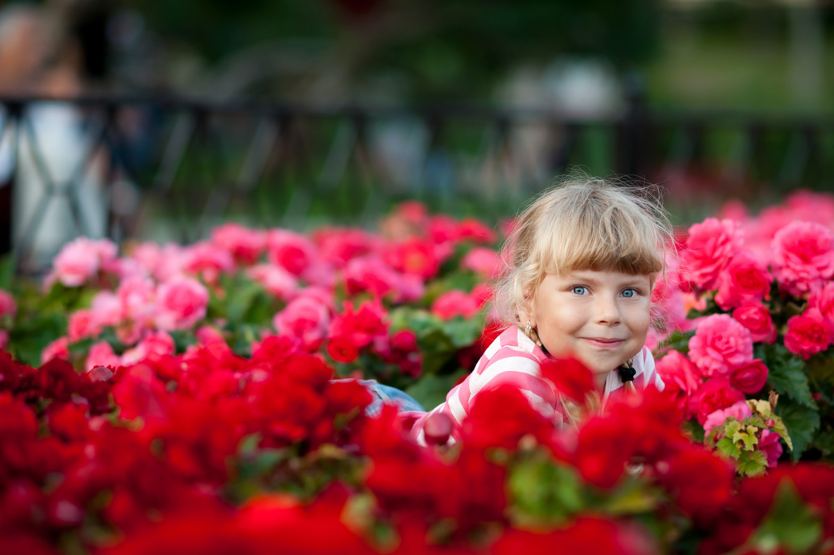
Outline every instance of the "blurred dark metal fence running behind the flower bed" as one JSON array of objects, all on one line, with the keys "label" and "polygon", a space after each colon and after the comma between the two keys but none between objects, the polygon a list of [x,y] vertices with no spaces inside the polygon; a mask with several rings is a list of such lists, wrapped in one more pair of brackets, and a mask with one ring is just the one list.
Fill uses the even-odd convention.
[{"label": "blurred dark metal fence running behind the flower bed", "polygon": [[374,221],[401,199],[510,215],[571,168],[681,209],[834,188],[834,120],[653,112],[0,98],[0,253],[37,272],[79,235],[190,242],[218,223]]}]

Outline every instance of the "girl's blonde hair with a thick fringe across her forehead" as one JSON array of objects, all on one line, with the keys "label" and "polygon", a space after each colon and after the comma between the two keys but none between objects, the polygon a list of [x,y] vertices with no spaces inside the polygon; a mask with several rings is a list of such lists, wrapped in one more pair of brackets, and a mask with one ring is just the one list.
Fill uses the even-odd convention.
[{"label": "girl's blonde hair with a thick fringe across her forehead", "polygon": [[[534,198],[516,219],[502,249],[505,270],[495,285],[498,317],[541,347],[535,329],[519,321],[519,312],[547,274],[615,270],[650,275],[654,283],[666,266],[672,238],[659,188],[571,174]],[[657,314],[652,320],[661,327]],[[598,398],[586,403],[591,410],[600,405]],[[565,409],[572,421],[583,412]]]}]

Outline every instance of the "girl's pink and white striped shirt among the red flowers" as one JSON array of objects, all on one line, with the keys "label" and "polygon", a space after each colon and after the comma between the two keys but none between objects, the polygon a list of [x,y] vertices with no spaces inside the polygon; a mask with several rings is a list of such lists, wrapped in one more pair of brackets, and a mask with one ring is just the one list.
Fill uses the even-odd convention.
[{"label": "girl's pink and white striped shirt among the red flowers", "polygon": [[[565,418],[560,411],[560,400],[550,383],[541,377],[540,365],[547,359],[544,351],[528,338],[520,328],[510,326],[490,344],[475,365],[475,370],[466,379],[452,388],[446,395],[446,402],[441,403],[428,413],[402,413],[403,418],[414,418],[411,428],[412,436],[418,443],[425,445],[423,427],[432,414],[443,413],[450,417],[453,425],[450,443],[460,439],[460,424],[469,414],[469,408],[478,393],[495,389],[503,384],[519,388],[530,403],[547,418],[562,425]],[[638,391],[653,384],[661,391],[663,380],[655,370],[655,359],[651,351],[643,347],[634,358],[636,370],[634,385]],[[611,399],[623,394],[623,383],[616,368],[605,377],[605,390],[602,396],[603,407]]]}]

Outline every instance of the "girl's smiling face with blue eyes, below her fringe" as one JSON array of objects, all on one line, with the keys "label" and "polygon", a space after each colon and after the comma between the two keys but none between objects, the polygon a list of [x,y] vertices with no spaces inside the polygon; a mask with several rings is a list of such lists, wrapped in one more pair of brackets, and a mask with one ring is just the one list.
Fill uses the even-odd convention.
[{"label": "girl's smiling face with blue eyes, below her fringe", "polygon": [[604,383],[646,343],[651,282],[649,275],[608,270],[548,274],[521,318],[530,318],[551,355],[578,359]]}]

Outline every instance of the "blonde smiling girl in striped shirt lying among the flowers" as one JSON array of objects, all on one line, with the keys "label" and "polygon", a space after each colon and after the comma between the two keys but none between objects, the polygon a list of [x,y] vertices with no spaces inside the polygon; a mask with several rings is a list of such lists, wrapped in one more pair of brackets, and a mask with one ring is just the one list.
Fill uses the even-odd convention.
[{"label": "blonde smiling girl in striped shirt lying among the flowers", "polygon": [[[473,400],[502,384],[519,388],[560,425],[576,425],[625,390],[662,389],[645,343],[651,291],[671,238],[660,203],[625,186],[574,179],[536,198],[505,243],[508,268],[495,307],[508,327],[445,403],[402,413],[415,418],[417,441],[425,444],[425,424],[445,414],[454,443]],[[590,368],[597,391],[587,407],[565,403],[540,377],[549,357]]]}]

